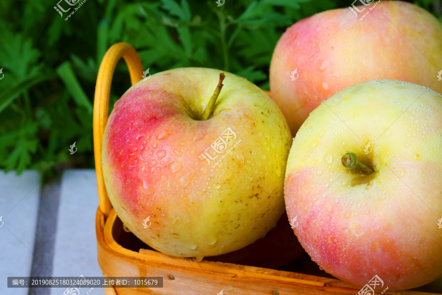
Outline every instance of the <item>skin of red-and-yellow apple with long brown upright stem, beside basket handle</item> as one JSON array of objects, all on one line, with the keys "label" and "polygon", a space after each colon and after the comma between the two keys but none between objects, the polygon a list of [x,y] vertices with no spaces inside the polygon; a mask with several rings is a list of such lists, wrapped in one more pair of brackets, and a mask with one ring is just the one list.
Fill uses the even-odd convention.
[{"label": "skin of red-and-yellow apple with long brown upright stem, beside basket handle", "polygon": [[[103,176],[112,206],[139,239],[169,255],[201,258],[243,248],[275,227],[284,211],[292,137],[270,97],[225,73],[212,117],[196,120],[220,72],[152,75],[115,103],[106,126]],[[209,148],[215,155],[210,146],[227,127],[237,138],[225,151],[233,151],[213,167],[225,151],[210,165],[201,154]]]}]

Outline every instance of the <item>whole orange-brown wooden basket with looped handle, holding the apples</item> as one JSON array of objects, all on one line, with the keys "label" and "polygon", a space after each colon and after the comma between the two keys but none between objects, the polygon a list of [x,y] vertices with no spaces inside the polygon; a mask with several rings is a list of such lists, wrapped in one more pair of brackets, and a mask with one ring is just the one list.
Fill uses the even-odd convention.
[{"label": "whole orange-brown wooden basket with looped handle, holding the apples", "polygon": [[[205,259],[198,262],[195,259],[172,257],[150,249],[134,235],[124,232],[123,224],[112,208],[106,192],[101,161],[103,135],[108,120],[112,75],[120,58],[123,58],[128,65],[132,85],[141,80],[143,73],[137,52],[126,43],[117,43],[108,50],[98,73],[93,118],[95,169],[100,202],[95,221],[98,262],[105,276],[162,276],[164,277],[164,287],[105,288],[106,295],[215,295],[221,290],[224,290],[225,295],[332,295],[357,294],[359,292],[360,288],[333,278],[257,267],[256,264],[254,264],[255,266],[247,266],[226,263],[229,259],[238,261],[235,258],[237,251],[232,252],[230,256],[223,256],[224,258],[221,260],[223,262]],[[266,237],[261,239],[264,240],[264,243]],[[271,252],[275,251],[262,252],[272,254]],[[258,256],[256,260],[262,260],[259,253],[252,254]],[[296,255],[299,256],[299,253]],[[241,255],[236,255],[236,257],[238,256]],[[291,258],[293,259],[293,257]],[[269,265],[272,265],[272,260],[271,257],[268,257]],[[385,294],[424,295],[429,293],[401,291]]]}]

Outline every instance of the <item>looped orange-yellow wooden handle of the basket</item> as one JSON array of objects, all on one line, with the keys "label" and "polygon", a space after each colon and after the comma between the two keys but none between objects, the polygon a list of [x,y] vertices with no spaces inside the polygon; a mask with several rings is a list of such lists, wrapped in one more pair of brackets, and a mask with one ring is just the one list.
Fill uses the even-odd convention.
[{"label": "looped orange-yellow wooden handle of the basket", "polygon": [[137,51],[127,43],[116,43],[106,52],[98,70],[97,84],[95,85],[94,97],[94,156],[95,171],[97,173],[98,201],[99,208],[108,217],[112,204],[106,192],[105,180],[103,177],[103,166],[101,162],[101,151],[103,148],[103,136],[108,122],[109,96],[111,93],[112,76],[115,66],[120,58],[126,61],[131,76],[132,85],[142,79],[143,66]]}]

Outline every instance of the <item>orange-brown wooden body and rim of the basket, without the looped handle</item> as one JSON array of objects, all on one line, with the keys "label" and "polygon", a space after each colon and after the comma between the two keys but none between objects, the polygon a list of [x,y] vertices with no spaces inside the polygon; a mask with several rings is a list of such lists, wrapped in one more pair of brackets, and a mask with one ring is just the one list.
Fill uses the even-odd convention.
[{"label": "orange-brown wooden body and rim of the basket, without the looped handle", "polygon": [[[360,289],[337,279],[302,273],[204,260],[198,262],[147,249],[140,249],[139,253],[131,251],[119,245],[112,236],[116,218],[112,209],[105,224],[104,214],[97,210],[98,261],[103,273],[108,276],[164,277],[163,288],[115,288],[118,295],[207,295],[221,290],[235,295],[271,295],[273,291],[281,295],[337,295],[357,294]],[[430,295],[414,291],[385,294]]]}]

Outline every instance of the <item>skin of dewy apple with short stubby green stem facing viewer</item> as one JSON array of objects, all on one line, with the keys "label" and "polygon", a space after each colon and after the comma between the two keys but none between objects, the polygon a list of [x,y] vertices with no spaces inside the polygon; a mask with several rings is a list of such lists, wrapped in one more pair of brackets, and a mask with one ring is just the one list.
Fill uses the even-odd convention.
[{"label": "skin of dewy apple with short stubby green stem facing viewer", "polygon": [[[346,88],[293,141],[288,218],[312,260],[341,280],[363,286],[377,274],[391,291],[442,275],[442,95],[424,89],[388,80]],[[345,168],[348,151],[375,173]]]}]

